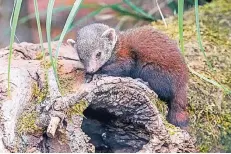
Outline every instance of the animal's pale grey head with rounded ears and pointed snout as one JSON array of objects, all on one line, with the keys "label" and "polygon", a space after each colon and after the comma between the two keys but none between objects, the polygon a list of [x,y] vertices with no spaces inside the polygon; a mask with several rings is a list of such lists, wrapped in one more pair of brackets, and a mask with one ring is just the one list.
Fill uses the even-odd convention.
[{"label": "animal's pale grey head with rounded ears and pointed snout", "polygon": [[87,73],[95,73],[111,58],[116,41],[115,30],[104,24],[91,24],[77,32],[74,47]]}]

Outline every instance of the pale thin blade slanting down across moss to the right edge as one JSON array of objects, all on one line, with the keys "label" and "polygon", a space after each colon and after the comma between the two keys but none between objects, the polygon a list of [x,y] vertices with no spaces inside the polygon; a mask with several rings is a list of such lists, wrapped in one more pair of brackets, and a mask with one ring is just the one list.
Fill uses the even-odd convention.
[{"label": "pale thin blade slanting down across moss to the right edge", "polygon": [[230,93],[231,93],[231,90],[228,89],[228,88],[226,88],[225,86],[219,84],[218,82],[216,82],[216,81],[214,81],[214,80],[212,80],[212,79],[206,78],[205,76],[203,76],[203,75],[197,73],[196,71],[194,71],[194,70],[191,69],[190,67],[188,67],[188,68],[189,68],[189,71],[190,71],[192,74],[198,76],[199,78],[205,80],[206,82],[208,82],[208,83],[210,83],[210,84],[212,84],[212,85],[214,85],[214,86],[216,86],[216,87],[218,87],[218,88],[220,88],[220,89],[223,89],[223,90],[225,91],[226,94],[230,94]]}]

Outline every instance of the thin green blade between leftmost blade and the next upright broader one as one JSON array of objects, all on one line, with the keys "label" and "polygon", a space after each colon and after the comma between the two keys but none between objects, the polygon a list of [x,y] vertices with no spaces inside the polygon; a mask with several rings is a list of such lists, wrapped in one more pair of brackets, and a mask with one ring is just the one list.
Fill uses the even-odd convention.
[{"label": "thin green blade between leftmost blade and the next upright broader one", "polygon": [[43,47],[43,36],[42,36],[42,29],[41,29],[41,24],[40,24],[40,17],[39,17],[38,1],[37,0],[34,0],[34,8],[35,8],[35,16],[36,16],[36,22],[37,22],[37,27],[38,27],[39,41],[40,41],[40,45],[42,47],[43,59],[44,59],[45,58],[45,51],[44,51],[44,47]]}]

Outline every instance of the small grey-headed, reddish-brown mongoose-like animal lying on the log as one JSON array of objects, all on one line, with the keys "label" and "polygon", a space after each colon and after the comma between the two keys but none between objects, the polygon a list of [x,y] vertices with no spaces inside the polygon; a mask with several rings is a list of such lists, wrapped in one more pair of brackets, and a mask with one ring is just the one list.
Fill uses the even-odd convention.
[{"label": "small grey-headed, reddish-brown mongoose-like animal lying on the log", "polygon": [[69,40],[88,74],[140,78],[168,103],[167,120],[187,128],[187,66],[177,44],[152,26],[115,32],[104,24],[91,24]]}]

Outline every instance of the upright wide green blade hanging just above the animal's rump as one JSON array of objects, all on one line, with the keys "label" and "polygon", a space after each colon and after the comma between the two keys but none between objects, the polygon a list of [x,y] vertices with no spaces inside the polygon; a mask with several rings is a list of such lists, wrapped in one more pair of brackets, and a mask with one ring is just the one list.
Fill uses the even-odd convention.
[{"label": "upright wide green blade hanging just above the animal's rump", "polygon": [[184,0],[178,0],[178,27],[180,37],[180,49],[184,55],[184,38],[183,38],[183,16],[184,16]]}]

